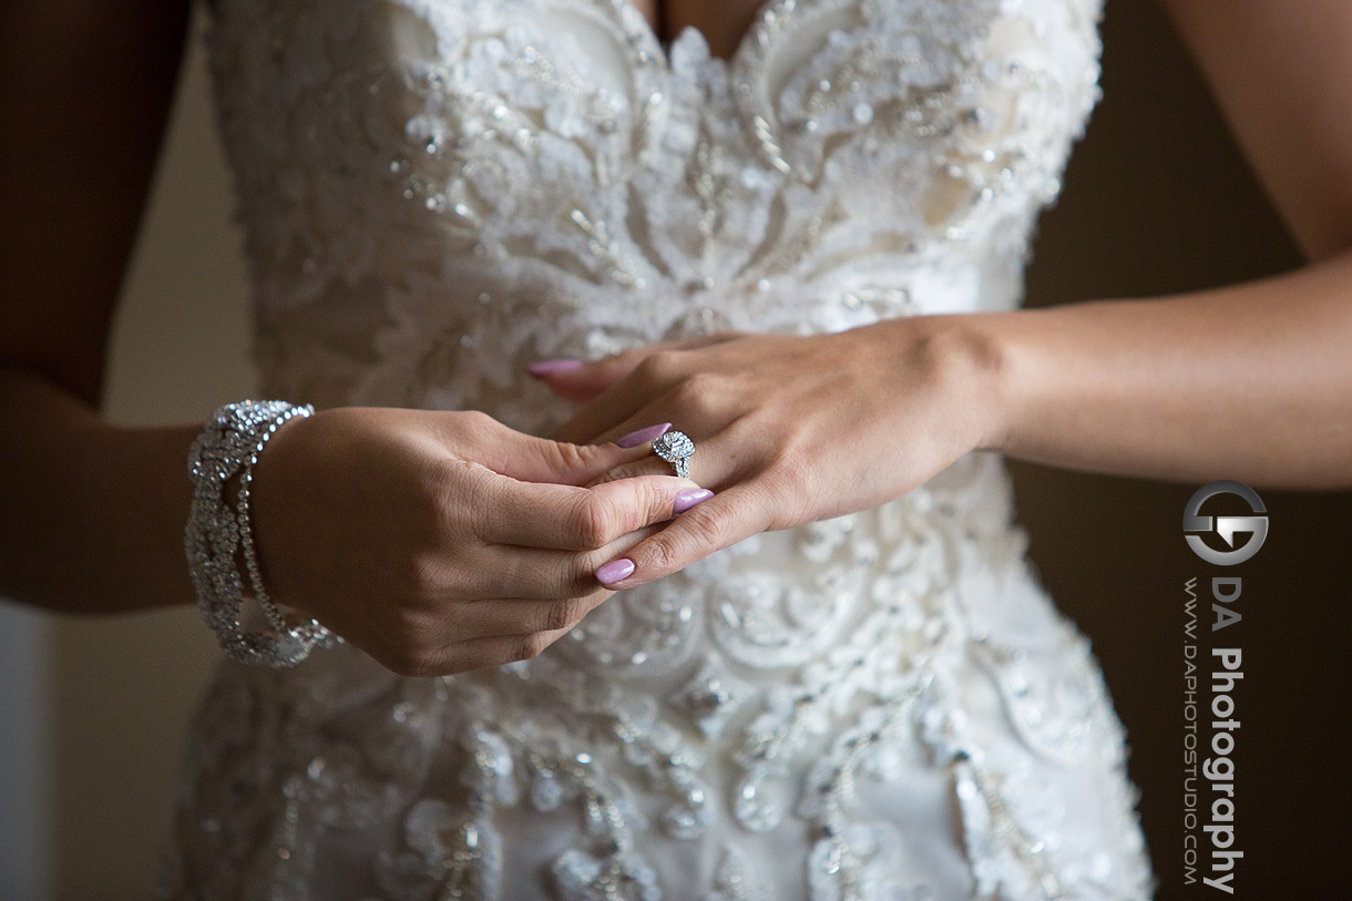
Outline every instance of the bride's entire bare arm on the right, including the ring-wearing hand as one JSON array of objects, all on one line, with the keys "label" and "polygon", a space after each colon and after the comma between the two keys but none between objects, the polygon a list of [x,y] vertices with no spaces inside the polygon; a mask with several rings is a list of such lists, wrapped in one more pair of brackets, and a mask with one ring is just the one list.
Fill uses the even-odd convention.
[{"label": "bride's entire bare arm on the right, including the ring-wearing hand", "polygon": [[561,436],[679,422],[719,492],[608,584],[902,496],[973,448],[1194,484],[1352,487],[1352,4],[1168,5],[1310,264],[1178,296],[725,336],[553,372],[552,390],[587,402]]}]

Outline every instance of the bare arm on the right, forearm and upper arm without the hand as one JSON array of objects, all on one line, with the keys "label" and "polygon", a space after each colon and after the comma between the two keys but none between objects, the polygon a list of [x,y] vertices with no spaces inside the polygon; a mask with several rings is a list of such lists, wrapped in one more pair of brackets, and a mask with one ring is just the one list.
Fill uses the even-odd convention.
[{"label": "bare arm on the right, forearm and upper arm without the hand", "polygon": [[1311,264],[973,319],[1002,361],[991,444],[1122,475],[1352,486],[1352,5],[1165,5]]}]

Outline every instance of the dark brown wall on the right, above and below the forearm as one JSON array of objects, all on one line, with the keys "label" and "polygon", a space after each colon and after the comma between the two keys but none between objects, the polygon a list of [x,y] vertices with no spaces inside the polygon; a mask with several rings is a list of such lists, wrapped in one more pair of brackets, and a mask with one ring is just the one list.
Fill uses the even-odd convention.
[{"label": "dark brown wall on the right, above and below the forearm", "polygon": [[[1042,219],[1029,306],[1175,294],[1301,265],[1155,4],[1107,4],[1103,42],[1105,99]],[[1184,544],[1182,515],[1201,486],[1013,469],[1042,580],[1091,637],[1126,722],[1157,897],[1221,897],[1183,881],[1183,583],[1202,576],[1206,610],[1213,568]],[[1241,898],[1348,897],[1338,864],[1352,846],[1343,766],[1352,495],[1259,494],[1270,536],[1236,567],[1244,620],[1215,644],[1244,652],[1233,697],[1234,847],[1245,856],[1234,885]],[[1202,629],[1205,655],[1213,639]],[[1209,701],[1209,680],[1202,691]]]}]

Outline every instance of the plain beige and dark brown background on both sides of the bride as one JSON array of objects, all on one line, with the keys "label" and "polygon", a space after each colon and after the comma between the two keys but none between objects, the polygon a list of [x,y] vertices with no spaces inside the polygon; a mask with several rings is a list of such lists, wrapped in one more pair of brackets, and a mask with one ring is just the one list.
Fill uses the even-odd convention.
[{"label": "plain beige and dark brown background on both sides of the bride", "polygon": [[[1030,302],[1172,292],[1295,265],[1155,8],[1113,5],[1105,41],[1106,100],[1076,152],[1059,208],[1044,221]],[[195,43],[126,284],[110,415],[199,419],[249,394],[246,285],[228,212]],[[1023,465],[1015,475],[1044,579],[1094,639],[1130,729],[1160,897],[1191,897],[1178,875],[1176,712],[1179,584],[1191,567],[1179,517],[1197,486]],[[1345,555],[1352,530],[1345,495],[1263,494],[1274,536],[1261,574],[1247,583],[1252,663],[1238,699],[1247,712],[1240,816],[1249,862],[1241,885],[1248,897],[1298,897],[1298,886],[1321,885],[1333,870],[1333,848],[1349,837],[1338,810],[1347,779],[1321,768],[1321,755],[1337,748],[1330,724],[1341,718],[1349,687],[1330,662],[1345,657],[1334,641],[1349,625],[1333,555]],[[0,812],[4,828],[18,831],[5,840],[38,846],[30,866],[41,863],[39,882],[53,885],[54,897],[145,897],[184,724],[215,645],[189,609],[59,621],[50,629],[34,617],[7,614],[11,621],[11,643],[31,644],[26,666],[43,672],[43,653],[50,663],[46,690],[34,690],[23,709],[41,720],[50,705],[50,721],[28,722],[24,737],[30,749],[54,751],[50,783],[32,760],[11,779],[31,782],[34,809]],[[5,689],[15,690],[20,682],[5,672]]]}]

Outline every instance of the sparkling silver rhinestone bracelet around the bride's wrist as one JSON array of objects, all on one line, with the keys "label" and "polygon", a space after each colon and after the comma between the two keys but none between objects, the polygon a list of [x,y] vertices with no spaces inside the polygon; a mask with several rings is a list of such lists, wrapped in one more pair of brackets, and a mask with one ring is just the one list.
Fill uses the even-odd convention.
[{"label": "sparkling silver rhinestone bracelet around the bride's wrist", "polygon": [[[289,624],[287,614],[269,599],[249,521],[258,455],[284,422],[314,413],[310,405],[296,407],[284,400],[227,403],[211,414],[188,453],[192,478],[192,510],[184,530],[188,571],[207,625],[220,639],[224,652],[243,663],[292,667],[310,656],[314,647],[342,641],[315,620]],[[233,479],[238,479],[238,487],[231,509],[227,492]],[[266,620],[251,632],[241,621],[245,602],[241,560],[253,599]]]}]

